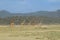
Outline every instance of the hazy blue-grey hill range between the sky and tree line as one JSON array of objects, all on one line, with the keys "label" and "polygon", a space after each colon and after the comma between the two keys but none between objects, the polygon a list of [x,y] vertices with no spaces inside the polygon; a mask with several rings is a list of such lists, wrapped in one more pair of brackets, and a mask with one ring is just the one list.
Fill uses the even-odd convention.
[{"label": "hazy blue-grey hill range between the sky and tree line", "polygon": [[0,17],[10,17],[10,16],[48,16],[48,17],[58,17],[60,16],[60,10],[57,11],[37,11],[31,13],[10,13],[6,10],[0,11]]}]

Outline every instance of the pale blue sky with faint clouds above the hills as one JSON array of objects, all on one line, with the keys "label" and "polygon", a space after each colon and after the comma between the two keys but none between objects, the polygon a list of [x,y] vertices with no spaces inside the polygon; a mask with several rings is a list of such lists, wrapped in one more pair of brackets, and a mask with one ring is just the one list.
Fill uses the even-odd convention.
[{"label": "pale blue sky with faint clouds above the hills", "polygon": [[58,9],[60,9],[60,0],[0,0],[0,10],[12,13],[56,11]]}]

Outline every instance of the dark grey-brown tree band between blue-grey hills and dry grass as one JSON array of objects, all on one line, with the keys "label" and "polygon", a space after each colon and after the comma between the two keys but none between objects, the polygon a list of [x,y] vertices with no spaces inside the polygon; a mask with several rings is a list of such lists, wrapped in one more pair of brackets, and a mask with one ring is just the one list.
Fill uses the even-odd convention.
[{"label": "dark grey-brown tree band between blue-grey hills and dry grass", "polygon": [[9,25],[13,20],[15,25],[36,25],[36,24],[60,24],[59,17],[47,17],[47,16],[12,16],[12,17],[0,17],[0,25]]}]

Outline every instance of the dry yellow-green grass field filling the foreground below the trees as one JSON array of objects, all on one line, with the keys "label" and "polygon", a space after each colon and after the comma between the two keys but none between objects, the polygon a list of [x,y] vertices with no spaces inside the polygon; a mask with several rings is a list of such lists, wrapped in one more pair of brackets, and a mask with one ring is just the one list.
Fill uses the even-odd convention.
[{"label": "dry yellow-green grass field filling the foreground below the trees", "polygon": [[60,40],[60,25],[0,25],[0,40]]}]

